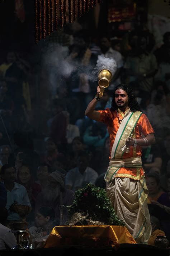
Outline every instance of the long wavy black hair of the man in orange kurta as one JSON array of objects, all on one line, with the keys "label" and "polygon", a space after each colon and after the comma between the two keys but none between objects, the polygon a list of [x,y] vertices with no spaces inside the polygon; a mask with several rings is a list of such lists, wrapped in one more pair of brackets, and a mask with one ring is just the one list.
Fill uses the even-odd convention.
[{"label": "long wavy black hair of the man in orange kurta", "polygon": [[122,90],[126,91],[128,97],[129,97],[128,106],[132,112],[140,111],[140,106],[137,102],[136,96],[133,94],[132,88],[126,84],[119,84],[115,87],[115,89],[113,91],[112,107],[110,108],[111,110],[114,111],[114,110],[118,109],[118,107],[115,103],[115,91],[117,89],[122,89]]}]

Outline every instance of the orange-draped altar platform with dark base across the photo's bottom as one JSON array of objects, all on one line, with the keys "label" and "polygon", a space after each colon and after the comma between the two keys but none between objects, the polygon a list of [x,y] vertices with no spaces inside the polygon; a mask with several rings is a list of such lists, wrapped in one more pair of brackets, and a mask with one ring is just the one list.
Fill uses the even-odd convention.
[{"label": "orange-draped altar platform with dark base across the photo's bottom", "polygon": [[0,250],[0,256],[169,256],[170,248],[137,244],[123,226],[55,226],[44,248]]}]

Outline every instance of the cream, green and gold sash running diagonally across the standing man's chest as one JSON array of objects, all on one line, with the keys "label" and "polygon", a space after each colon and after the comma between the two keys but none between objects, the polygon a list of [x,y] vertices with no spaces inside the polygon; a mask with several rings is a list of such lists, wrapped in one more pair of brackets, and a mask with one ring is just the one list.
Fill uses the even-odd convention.
[{"label": "cream, green and gold sash running diagonally across the standing man's chest", "polygon": [[141,114],[142,112],[140,111],[130,111],[129,114],[123,118],[113,143],[111,159],[120,159],[123,157],[122,147],[124,146],[127,138],[132,134]]}]

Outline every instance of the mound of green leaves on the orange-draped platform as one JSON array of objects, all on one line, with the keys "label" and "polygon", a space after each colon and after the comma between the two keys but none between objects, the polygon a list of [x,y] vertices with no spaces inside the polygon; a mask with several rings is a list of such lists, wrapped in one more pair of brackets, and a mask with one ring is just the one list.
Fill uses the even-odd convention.
[{"label": "mound of green leaves on the orange-draped platform", "polygon": [[115,214],[105,189],[92,184],[75,192],[69,212],[68,225],[125,225]]}]

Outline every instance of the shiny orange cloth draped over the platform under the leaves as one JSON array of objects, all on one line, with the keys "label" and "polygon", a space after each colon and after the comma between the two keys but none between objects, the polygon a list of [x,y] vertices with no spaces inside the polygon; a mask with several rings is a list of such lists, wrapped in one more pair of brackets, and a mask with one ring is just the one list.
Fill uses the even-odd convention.
[{"label": "shiny orange cloth draped over the platform under the leaves", "polygon": [[123,226],[55,226],[44,247],[90,246],[100,247],[120,243],[136,243]]}]

